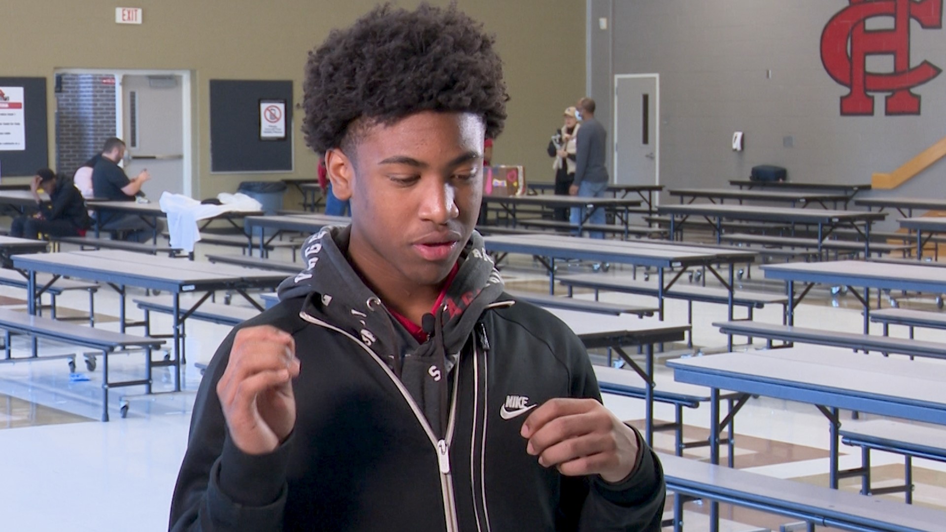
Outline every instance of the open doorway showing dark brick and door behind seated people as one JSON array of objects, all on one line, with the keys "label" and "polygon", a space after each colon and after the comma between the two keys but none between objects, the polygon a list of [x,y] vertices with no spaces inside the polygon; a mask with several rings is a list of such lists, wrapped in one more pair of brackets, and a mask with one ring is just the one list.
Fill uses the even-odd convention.
[{"label": "open doorway showing dark brick and door behind seated people", "polygon": [[193,196],[190,73],[63,69],[56,73],[57,169],[72,175],[102,142],[128,148],[119,164],[133,178],[148,169],[146,197]]}]

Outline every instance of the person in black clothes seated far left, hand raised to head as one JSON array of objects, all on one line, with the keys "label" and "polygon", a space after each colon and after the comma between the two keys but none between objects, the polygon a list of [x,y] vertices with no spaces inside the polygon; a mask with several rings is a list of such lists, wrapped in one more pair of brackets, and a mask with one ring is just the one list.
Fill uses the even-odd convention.
[{"label": "person in black clothes seated far left, hand raised to head", "polygon": [[[40,197],[40,188],[49,196],[48,201]],[[76,237],[89,228],[85,202],[68,177],[57,175],[49,168],[38,169],[29,182],[29,190],[39,212],[13,219],[10,237],[39,239],[41,233],[50,237]]]}]

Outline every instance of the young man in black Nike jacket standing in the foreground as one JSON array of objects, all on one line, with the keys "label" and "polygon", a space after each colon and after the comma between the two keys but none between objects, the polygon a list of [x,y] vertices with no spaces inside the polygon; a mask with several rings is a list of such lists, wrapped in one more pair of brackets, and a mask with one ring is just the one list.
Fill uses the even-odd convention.
[{"label": "young man in black Nike jacket standing in the foreground", "polygon": [[352,222],[207,366],[172,530],[659,530],[656,455],[474,231],[507,99],[455,5],[378,7],[309,54],[303,130]]}]

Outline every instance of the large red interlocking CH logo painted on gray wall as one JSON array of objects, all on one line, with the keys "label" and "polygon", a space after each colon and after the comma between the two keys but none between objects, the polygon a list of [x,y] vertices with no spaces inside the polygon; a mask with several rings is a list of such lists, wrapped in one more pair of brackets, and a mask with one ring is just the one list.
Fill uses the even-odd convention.
[{"label": "large red interlocking CH logo painted on gray wall", "polygon": [[[841,98],[841,115],[873,115],[874,97],[868,92],[890,93],[885,98],[885,115],[920,115],[920,96],[910,89],[936,78],[941,70],[928,61],[910,67],[910,19],[924,29],[941,28],[943,0],[849,2],[821,32],[825,70],[850,89]],[[892,17],[893,29],[868,30],[865,22],[873,17]],[[893,72],[867,72],[869,55],[892,55]]]}]

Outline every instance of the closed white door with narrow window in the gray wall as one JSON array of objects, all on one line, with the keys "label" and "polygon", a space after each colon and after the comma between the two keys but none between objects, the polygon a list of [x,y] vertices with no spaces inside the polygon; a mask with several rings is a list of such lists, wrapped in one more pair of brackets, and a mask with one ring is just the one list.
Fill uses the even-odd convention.
[{"label": "closed white door with narrow window in the gray wall", "polygon": [[657,74],[614,77],[614,182],[659,184]]}]

